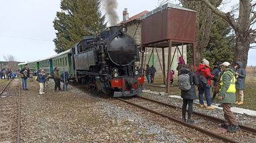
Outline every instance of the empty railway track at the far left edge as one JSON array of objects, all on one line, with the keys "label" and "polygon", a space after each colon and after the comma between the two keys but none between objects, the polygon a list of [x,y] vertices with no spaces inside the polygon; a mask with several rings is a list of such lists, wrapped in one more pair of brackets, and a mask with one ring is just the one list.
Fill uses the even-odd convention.
[{"label": "empty railway track at the far left edge", "polygon": [[0,92],[0,142],[19,143],[20,102],[19,82],[11,80]]}]

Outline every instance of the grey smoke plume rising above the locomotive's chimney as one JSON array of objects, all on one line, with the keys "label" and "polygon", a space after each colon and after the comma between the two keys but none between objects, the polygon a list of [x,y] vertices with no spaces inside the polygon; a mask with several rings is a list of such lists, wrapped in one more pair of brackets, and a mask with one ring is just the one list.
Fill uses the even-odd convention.
[{"label": "grey smoke plume rising above the locomotive's chimney", "polygon": [[116,9],[118,8],[117,0],[102,0],[102,7],[106,12],[106,16],[111,26],[118,24],[118,14]]}]

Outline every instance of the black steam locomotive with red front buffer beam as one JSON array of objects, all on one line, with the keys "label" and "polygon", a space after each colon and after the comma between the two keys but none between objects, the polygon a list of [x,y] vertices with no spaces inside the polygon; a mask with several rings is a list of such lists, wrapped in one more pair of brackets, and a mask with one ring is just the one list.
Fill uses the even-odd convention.
[{"label": "black steam locomotive with red front buffer beam", "polygon": [[86,36],[72,47],[76,80],[114,97],[142,92],[144,76],[135,62],[139,49],[124,26],[110,27],[98,36]]}]

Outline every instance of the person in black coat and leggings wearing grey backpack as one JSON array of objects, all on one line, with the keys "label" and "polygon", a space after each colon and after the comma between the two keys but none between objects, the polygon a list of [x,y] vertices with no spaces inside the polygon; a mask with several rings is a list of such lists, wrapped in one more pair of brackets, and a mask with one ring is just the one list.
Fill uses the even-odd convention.
[{"label": "person in black coat and leggings wearing grey backpack", "polygon": [[[178,75],[178,87],[181,89],[181,97],[183,98],[182,105],[182,121],[188,124],[193,124],[191,119],[193,112],[193,100],[197,98],[195,85],[198,85],[197,74],[193,73],[194,67],[190,65],[190,69],[183,68]],[[188,118],[186,120],[186,106],[188,105]]]}]

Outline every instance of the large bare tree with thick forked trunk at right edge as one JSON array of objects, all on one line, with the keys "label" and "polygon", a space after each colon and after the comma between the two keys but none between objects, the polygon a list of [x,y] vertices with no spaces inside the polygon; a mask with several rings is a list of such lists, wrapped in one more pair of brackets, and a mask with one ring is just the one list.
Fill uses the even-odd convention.
[{"label": "large bare tree with thick forked trunk at right edge", "polygon": [[253,27],[256,23],[256,2],[252,0],[239,0],[239,7],[237,8],[239,15],[235,17],[232,13],[233,11],[224,13],[217,9],[209,0],[199,1],[204,2],[214,13],[225,19],[233,27],[236,35],[233,62],[242,61],[244,68],[246,68],[250,44],[255,43],[256,38],[256,29]]}]

